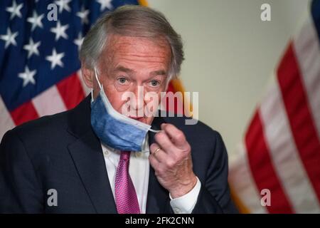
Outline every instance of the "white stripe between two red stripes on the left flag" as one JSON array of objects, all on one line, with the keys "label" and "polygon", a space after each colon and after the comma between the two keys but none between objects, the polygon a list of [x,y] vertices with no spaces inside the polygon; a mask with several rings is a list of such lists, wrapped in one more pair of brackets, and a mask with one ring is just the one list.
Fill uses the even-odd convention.
[{"label": "white stripe between two red stripes on the left flag", "polygon": [[37,95],[32,99],[32,103],[39,116],[53,115],[67,110],[67,108],[65,108],[65,103],[55,86],[52,86],[48,88],[48,90]]}]

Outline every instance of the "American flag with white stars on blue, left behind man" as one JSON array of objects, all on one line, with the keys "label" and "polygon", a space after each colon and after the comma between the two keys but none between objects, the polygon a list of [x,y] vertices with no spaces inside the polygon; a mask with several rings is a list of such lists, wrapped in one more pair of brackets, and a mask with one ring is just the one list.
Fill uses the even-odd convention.
[{"label": "American flag with white stars on blue, left behind man", "polygon": [[[82,37],[105,11],[143,2],[1,0],[0,140],[16,125],[68,110],[85,98],[89,91],[78,60]],[[49,20],[55,7],[57,20]]]}]

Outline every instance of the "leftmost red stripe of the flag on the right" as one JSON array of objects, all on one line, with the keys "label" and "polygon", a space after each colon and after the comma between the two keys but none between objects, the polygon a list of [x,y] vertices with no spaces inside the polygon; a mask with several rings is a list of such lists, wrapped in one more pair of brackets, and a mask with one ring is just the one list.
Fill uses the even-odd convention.
[{"label": "leftmost red stripe of the flag on the right", "polygon": [[274,171],[259,111],[255,113],[247,130],[245,144],[252,176],[259,192],[263,189],[271,192],[271,205],[266,206],[267,210],[270,213],[292,213],[292,205]]}]

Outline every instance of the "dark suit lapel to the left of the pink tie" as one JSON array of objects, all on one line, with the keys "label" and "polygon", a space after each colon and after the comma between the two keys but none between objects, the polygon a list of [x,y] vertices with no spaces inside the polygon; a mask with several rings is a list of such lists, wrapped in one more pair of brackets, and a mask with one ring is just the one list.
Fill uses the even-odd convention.
[{"label": "dark suit lapel to the left of the pink tie", "polygon": [[90,124],[90,98],[70,112],[68,131],[77,138],[68,150],[97,213],[117,213],[100,140]]}]

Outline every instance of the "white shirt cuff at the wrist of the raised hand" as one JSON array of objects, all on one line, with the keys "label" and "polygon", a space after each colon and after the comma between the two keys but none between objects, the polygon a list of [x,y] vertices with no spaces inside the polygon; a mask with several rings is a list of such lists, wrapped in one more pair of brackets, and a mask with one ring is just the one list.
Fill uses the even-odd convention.
[{"label": "white shirt cuff at the wrist of the raised hand", "polygon": [[193,211],[193,208],[196,206],[200,189],[201,189],[201,182],[197,177],[196,186],[193,187],[193,189],[190,192],[188,192],[186,195],[172,199],[169,193],[169,197],[171,199],[170,205],[174,210],[174,214],[191,214],[191,212]]}]

